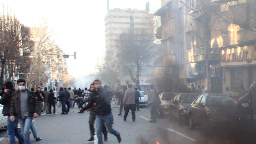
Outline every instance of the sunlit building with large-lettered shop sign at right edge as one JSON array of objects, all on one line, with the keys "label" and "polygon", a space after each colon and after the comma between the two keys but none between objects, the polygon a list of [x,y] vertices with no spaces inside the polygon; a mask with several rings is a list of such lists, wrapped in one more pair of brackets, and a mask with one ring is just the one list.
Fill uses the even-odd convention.
[{"label": "sunlit building with large-lettered shop sign at right edge", "polygon": [[241,84],[246,90],[256,81],[256,1],[212,0],[219,7],[213,19],[211,47],[219,49],[223,92],[229,87],[239,95]]}]

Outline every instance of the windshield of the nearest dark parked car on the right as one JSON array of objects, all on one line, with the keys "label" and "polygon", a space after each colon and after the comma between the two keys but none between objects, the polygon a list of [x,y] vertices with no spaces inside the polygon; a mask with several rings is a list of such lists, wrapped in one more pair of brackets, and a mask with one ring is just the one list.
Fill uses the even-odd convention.
[{"label": "windshield of the nearest dark parked car on the right", "polygon": [[236,106],[237,101],[230,96],[209,95],[206,106]]}]

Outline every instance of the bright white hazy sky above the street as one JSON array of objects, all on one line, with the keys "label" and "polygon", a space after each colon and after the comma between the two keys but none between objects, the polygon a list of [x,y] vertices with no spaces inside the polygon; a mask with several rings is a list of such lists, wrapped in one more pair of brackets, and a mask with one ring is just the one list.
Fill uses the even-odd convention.
[{"label": "bright white hazy sky above the street", "polygon": [[[74,77],[94,71],[97,58],[105,53],[104,17],[107,0],[0,0],[26,26],[34,26],[40,17],[48,20],[57,45],[68,59],[69,73]],[[145,10],[150,1],[151,12],[160,7],[160,0],[110,0],[110,8]]]}]

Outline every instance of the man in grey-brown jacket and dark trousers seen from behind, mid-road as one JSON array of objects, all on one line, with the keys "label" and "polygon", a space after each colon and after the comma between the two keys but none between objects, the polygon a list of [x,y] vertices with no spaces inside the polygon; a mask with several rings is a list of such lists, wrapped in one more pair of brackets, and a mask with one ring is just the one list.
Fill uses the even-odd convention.
[{"label": "man in grey-brown jacket and dark trousers seen from behind, mid-road", "polygon": [[135,121],[135,89],[132,89],[132,84],[128,84],[128,89],[124,92],[124,121],[126,121],[129,110],[132,110],[132,121]]}]

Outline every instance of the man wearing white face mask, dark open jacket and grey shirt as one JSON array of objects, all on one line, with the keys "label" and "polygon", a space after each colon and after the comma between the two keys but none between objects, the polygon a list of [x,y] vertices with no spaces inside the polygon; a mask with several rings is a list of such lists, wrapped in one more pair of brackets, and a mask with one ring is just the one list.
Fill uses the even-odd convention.
[{"label": "man wearing white face mask, dark open jacket and grey shirt", "polygon": [[29,129],[31,127],[33,117],[37,118],[38,103],[34,93],[26,89],[25,80],[19,79],[17,84],[19,90],[12,93],[10,120],[14,121],[15,116],[18,117],[21,131],[23,133],[24,144],[29,144]]}]

